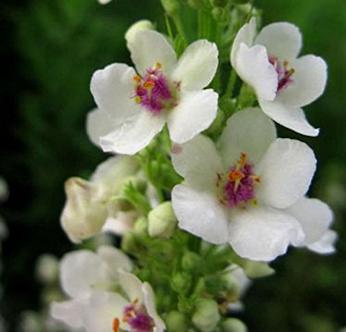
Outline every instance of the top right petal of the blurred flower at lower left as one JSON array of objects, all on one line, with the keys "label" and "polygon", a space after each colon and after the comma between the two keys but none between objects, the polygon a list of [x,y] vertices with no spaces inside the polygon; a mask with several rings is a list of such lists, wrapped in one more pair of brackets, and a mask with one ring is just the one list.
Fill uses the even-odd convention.
[{"label": "top right petal of the blurred flower at lower left", "polygon": [[117,248],[114,248],[113,246],[100,246],[97,253],[109,267],[113,280],[118,280],[119,269],[121,269],[122,271],[132,270],[133,264],[129,257],[127,257],[125,253]]}]

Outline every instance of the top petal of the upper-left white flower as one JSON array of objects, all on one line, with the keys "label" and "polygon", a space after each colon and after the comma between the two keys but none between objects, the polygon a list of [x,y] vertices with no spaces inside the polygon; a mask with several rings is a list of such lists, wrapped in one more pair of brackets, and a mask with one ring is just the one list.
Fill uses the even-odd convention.
[{"label": "top petal of the upper-left white flower", "polygon": [[153,30],[140,30],[132,40],[129,44],[131,59],[140,75],[145,75],[145,70],[159,62],[165,75],[170,76],[176,65],[176,54],[164,35]]}]

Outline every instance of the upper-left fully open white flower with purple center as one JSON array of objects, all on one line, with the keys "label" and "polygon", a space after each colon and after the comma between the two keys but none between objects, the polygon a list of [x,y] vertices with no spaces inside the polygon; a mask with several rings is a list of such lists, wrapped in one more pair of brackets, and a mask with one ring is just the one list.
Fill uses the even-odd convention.
[{"label": "upper-left fully open white flower with purple center", "polygon": [[178,143],[208,128],[217,114],[218,95],[202,89],[217,69],[215,43],[195,41],[177,61],[163,35],[138,30],[129,50],[137,72],[126,64],[111,64],[91,79],[98,109],[89,116],[88,131],[100,137],[104,151],[133,155],[166,122],[170,138]]}]

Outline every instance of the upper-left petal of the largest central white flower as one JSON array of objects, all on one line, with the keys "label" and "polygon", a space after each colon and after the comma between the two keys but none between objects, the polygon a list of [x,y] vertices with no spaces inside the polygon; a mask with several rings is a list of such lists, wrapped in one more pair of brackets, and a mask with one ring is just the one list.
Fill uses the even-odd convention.
[{"label": "upper-left petal of the largest central white flower", "polygon": [[173,167],[185,180],[203,188],[215,188],[217,173],[222,173],[221,158],[214,142],[204,135],[194,137],[172,153]]}]

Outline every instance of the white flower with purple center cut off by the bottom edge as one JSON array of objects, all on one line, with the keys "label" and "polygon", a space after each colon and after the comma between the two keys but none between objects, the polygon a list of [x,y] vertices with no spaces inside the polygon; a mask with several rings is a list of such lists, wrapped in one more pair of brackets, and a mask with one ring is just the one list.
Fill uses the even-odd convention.
[{"label": "white flower with purple center cut off by the bottom edge", "polygon": [[119,273],[122,295],[93,293],[82,305],[86,332],[162,332],[165,323],[156,313],[155,295],[147,282],[131,273]]}]

